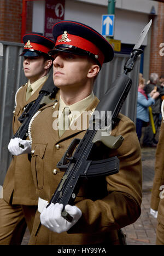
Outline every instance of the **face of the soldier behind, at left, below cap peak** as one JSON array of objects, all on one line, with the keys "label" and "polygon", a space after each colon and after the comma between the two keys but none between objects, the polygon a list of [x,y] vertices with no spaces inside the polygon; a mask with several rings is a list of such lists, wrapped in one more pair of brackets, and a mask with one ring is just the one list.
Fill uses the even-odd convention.
[{"label": "face of the soldier behind, at left, below cap peak", "polygon": [[28,79],[42,77],[45,72],[44,66],[43,56],[24,57],[24,72]]}]

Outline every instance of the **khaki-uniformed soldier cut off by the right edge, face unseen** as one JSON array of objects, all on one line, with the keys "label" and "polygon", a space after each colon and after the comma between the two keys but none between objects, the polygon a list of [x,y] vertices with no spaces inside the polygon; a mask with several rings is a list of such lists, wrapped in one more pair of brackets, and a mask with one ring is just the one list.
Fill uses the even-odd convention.
[{"label": "khaki-uniformed soldier cut off by the right edge, face unseen", "polygon": [[163,107],[164,101],[162,101],[162,122],[160,127],[159,143],[157,144],[156,156],[155,156],[155,177],[153,183],[153,190],[151,192],[150,213],[157,218],[156,229],[156,244],[164,244],[164,159],[163,159],[163,140],[164,140],[164,115]]}]

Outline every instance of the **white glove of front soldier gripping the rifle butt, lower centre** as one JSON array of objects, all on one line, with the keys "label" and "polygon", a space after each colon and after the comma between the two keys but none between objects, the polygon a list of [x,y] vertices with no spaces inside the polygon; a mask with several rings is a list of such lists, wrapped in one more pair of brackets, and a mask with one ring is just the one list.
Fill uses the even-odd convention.
[{"label": "white glove of front soldier gripping the rifle butt, lower centre", "polygon": [[58,234],[71,229],[71,227],[80,219],[82,215],[81,210],[78,207],[70,206],[69,204],[65,206],[66,212],[73,217],[73,220],[70,223],[62,217],[62,209],[63,204],[59,203],[51,203],[48,208],[44,208],[43,212],[40,214],[42,225]]}]

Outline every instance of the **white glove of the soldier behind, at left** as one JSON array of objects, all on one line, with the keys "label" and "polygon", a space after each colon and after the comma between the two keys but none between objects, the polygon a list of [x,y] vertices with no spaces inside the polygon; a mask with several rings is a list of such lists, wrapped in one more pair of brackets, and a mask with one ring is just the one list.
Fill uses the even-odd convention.
[{"label": "white glove of the soldier behind, at left", "polygon": [[15,155],[15,156],[31,153],[30,140],[22,140],[20,138],[10,139],[8,150],[12,155]]}]

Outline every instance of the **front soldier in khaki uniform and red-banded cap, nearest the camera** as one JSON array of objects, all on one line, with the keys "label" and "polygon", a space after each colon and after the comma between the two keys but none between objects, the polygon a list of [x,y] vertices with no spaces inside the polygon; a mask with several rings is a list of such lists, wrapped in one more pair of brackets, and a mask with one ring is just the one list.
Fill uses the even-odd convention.
[{"label": "front soldier in khaki uniform and red-banded cap, nearest the camera", "polygon": [[[73,217],[71,223],[61,216],[62,204],[45,208],[63,176],[56,164],[74,138],[83,138],[84,123],[80,129],[73,127],[82,120],[84,110],[95,110],[99,100],[93,95],[93,83],[103,62],[114,55],[106,39],[79,22],[57,22],[53,35],[56,44],[50,54],[60,99],[37,112],[30,126],[31,170],[39,201],[29,244],[120,244],[118,230],[137,220],[142,201],[140,146],[134,123],[124,115],[118,115],[112,131],[124,137],[119,149],[111,151],[102,145],[92,153],[94,160],[118,156],[119,173],[83,180],[75,206],[65,207]],[[76,117],[75,110],[79,111]],[[60,124],[61,112],[71,122],[67,130]]]}]

